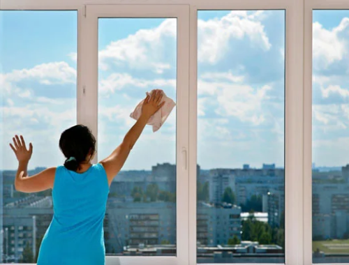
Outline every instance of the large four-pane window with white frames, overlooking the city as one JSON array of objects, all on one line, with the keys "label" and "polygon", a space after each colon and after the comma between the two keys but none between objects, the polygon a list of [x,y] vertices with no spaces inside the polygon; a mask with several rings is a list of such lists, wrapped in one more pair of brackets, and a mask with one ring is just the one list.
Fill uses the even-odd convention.
[{"label": "large four-pane window with white frames, overlooking the city", "polygon": [[52,220],[50,191],[14,189],[8,139],[34,143],[31,174],[83,123],[97,162],[156,88],[176,107],[112,184],[107,264],[348,263],[347,1],[107,2],[1,0],[0,263]]}]

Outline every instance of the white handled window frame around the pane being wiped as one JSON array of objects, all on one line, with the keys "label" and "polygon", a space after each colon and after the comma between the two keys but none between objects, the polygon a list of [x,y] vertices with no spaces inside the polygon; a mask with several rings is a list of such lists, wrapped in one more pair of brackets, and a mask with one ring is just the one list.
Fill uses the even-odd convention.
[{"label": "white handled window frame around the pane being wiped", "polygon": [[[142,264],[181,265],[188,262],[188,80],[189,80],[189,8],[172,5],[89,5],[86,22],[83,23],[84,68],[82,79],[87,105],[84,123],[89,123],[94,135],[98,135],[98,18],[103,17],[160,17],[177,18],[177,255],[176,257],[142,257]],[[89,109],[89,112],[86,112]],[[107,257],[107,264],[136,265],[140,257]]]}]

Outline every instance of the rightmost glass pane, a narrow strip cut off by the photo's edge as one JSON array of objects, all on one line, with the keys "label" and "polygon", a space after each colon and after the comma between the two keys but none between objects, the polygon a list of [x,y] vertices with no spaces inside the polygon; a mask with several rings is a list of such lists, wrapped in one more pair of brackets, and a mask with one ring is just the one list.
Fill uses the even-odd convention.
[{"label": "rightmost glass pane, a narrow strip cut off by the photo's edge", "polygon": [[348,21],[313,11],[313,263],[349,262]]}]

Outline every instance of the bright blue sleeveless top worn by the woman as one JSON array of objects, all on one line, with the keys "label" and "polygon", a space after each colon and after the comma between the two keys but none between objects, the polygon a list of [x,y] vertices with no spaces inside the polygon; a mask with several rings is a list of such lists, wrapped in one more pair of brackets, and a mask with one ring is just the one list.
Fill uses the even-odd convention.
[{"label": "bright blue sleeveless top worn by the woman", "polygon": [[40,245],[38,265],[104,265],[103,220],[109,194],[103,165],[84,173],[57,167],[53,218]]}]

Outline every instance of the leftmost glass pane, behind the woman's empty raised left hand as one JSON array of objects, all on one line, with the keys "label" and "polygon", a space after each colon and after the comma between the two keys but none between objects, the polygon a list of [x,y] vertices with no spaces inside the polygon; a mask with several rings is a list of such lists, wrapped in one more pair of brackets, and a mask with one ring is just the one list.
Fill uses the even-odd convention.
[{"label": "leftmost glass pane, behind the woman's empty raised left hand", "polygon": [[8,144],[15,134],[33,143],[29,176],[63,164],[59,137],[76,124],[77,12],[1,10],[0,22],[0,263],[36,263],[52,220],[51,190],[15,191]]}]

